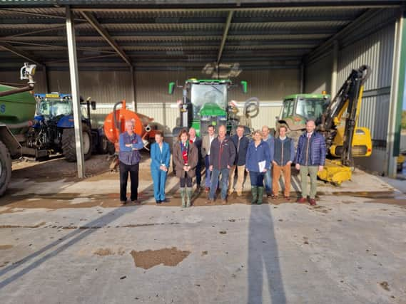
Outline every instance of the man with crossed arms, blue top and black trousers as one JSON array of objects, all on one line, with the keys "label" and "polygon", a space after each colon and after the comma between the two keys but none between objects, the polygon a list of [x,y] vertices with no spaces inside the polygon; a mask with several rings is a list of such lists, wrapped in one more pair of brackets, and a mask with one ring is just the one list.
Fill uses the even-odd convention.
[{"label": "man with crossed arms, blue top and black trousers", "polygon": [[134,121],[126,121],[126,132],[120,135],[120,202],[127,202],[128,172],[131,179],[131,202],[138,202],[138,163],[141,159],[139,150],[143,148],[143,140],[140,135],[134,133]]}]

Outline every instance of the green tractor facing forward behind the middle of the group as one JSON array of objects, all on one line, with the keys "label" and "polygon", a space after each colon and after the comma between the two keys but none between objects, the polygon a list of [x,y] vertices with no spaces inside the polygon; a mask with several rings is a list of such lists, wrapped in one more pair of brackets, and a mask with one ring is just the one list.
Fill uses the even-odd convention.
[{"label": "green tractor facing forward behind the middle of the group", "polygon": [[[247,82],[241,81],[243,93],[247,93]],[[183,85],[183,97],[178,101],[181,117],[173,129],[175,137],[183,128],[193,127],[198,136],[207,132],[208,125],[218,127],[225,125],[228,134],[235,132],[239,123],[235,105],[228,102],[228,91],[232,88],[231,80],[195,79],[186,80]],[[173,94],[176,83],[169,83],[169,94]],[[249,132],[249,130],[248,130]]]}]

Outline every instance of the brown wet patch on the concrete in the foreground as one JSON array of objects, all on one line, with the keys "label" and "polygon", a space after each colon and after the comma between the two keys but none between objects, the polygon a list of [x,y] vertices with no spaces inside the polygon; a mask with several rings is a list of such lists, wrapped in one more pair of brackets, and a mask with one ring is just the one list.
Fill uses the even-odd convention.
[{"label": "brown wet patch on the concrete in the foreground", "polygon": [[164,266],[177,266],[187,258],[191,251],[181,251],[176,247],[158,250],[131,251],[136,267],[149,269],[163,264]]}]

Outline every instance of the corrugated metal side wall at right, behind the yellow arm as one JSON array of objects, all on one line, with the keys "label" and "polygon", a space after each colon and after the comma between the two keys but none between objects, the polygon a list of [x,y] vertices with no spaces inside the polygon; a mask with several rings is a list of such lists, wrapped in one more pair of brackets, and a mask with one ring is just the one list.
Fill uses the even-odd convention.
[{"label": "corrugated metal side wall at right, behind the yellow arm", "polygon": [[[380,173],[385,171],[396,16],[395,10],[382,10],[382,14],[338,40],[338,89],[353,68],[360,65],[371,68],[370,78],[365,83],[358,125],[371,130],[374,148],[371,157],[357,158],[357,163]],[[305,67],[307,91],[331,88],[332,56],[333,50]]]}]

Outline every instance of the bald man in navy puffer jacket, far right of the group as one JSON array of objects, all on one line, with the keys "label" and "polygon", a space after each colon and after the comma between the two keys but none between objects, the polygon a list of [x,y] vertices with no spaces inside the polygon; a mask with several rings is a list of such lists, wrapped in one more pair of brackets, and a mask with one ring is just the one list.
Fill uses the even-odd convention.
[{"label": "bald man in navy puffer jacket, far right of the group", "polygon": [[296,169],[300,170],[302,197],[298,203],[305,203],[308,196],[308,174],[310,175],[309,203],[315,206],[318,171],[322,171],[325,164],[325,139],[315,132],[315,121],[306,122],[306,132],[300,135],[298,150],[296,151]]}]

